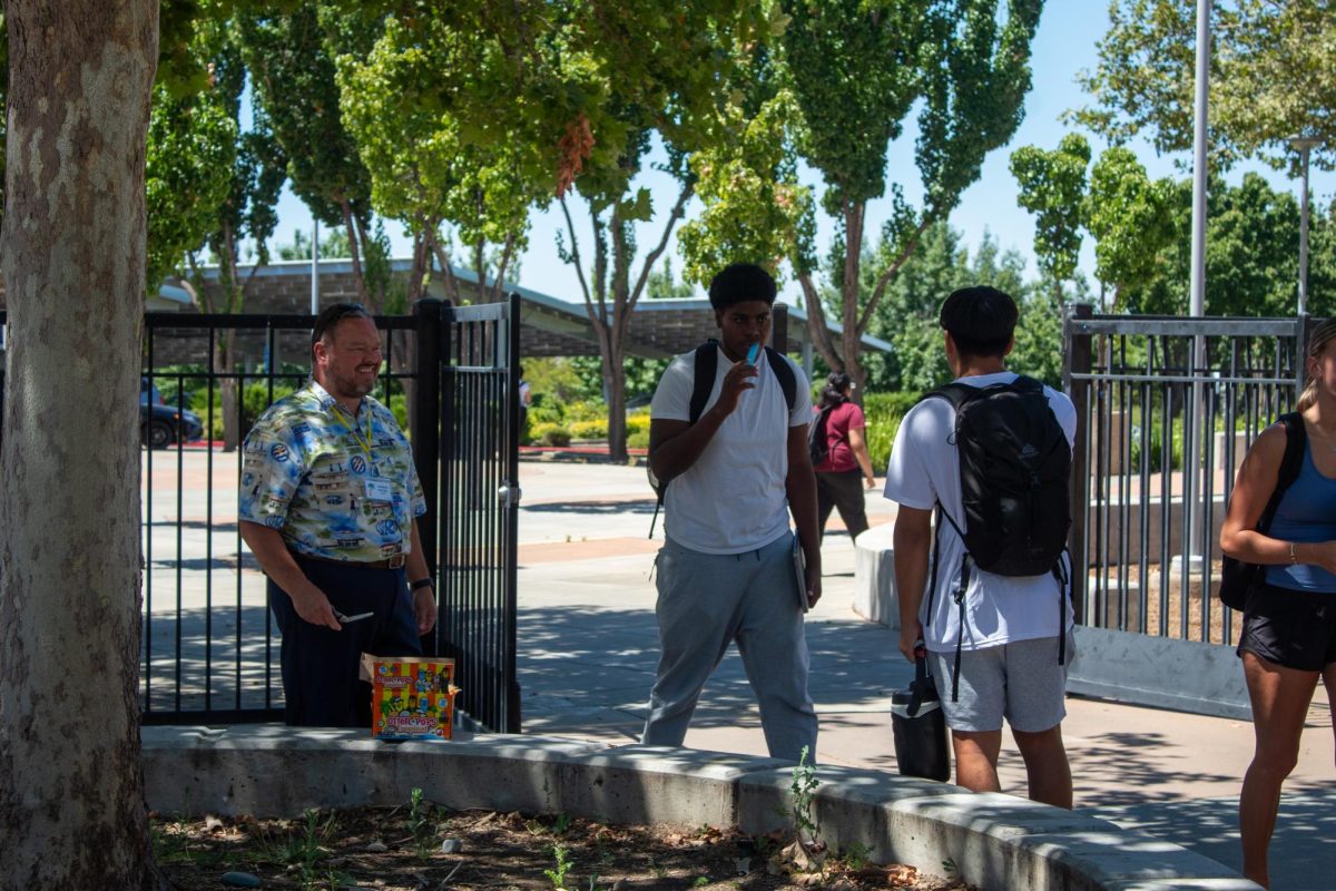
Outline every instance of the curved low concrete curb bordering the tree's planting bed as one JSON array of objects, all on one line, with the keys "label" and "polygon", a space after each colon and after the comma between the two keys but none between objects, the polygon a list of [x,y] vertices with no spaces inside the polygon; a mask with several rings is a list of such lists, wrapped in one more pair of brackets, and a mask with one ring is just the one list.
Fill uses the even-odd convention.
[{"label": "curved low concrete curb bordering the tree's planting bed", "polygon": [[[569,814],[608,823],[788,824],[792,768],[679,748],[599,748],[540,736],[385,744],[359,731],[278,725],[146,727],[148,807],[167,814],[297,816],[307,807],[402,804],[409,791],[449,808]],[[953,862],[981,888],[1245,891],[1228,867],[1106,820],[1006,795],[878,771],[820,767],[814,811],[835,850],[941,874]]]}]

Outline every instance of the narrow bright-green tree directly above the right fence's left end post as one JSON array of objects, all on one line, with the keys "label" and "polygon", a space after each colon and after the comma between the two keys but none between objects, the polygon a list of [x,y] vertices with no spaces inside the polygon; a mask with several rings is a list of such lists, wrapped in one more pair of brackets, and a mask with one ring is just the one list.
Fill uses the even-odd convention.
[{"label": "narrow bright-green tree directly above the right fence's left end post", "polygon": [[1081,226],[1090,143],[1067,134],[1053,151],[1023,146],[1011,152],[1011,175],[1019,184],[1017,203],[1034,214],[1034,256],[1062,303],[1062,282],[1081,259]]}]

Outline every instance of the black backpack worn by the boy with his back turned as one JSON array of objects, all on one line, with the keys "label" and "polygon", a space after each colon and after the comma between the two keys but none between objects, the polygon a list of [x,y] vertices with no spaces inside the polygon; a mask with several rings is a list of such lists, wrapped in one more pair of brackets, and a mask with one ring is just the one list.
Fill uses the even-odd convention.
[{"label": "black backpack worn by the boy with his back turned", "polygon": [[[986,387],[949,383],[925,398],[946,399],[955,409],[954,443],[961,457],[963,529],[941,502],[937,505],[937,534],[942,534],[941,518],[945,517],[965,542],[955,590],[962,637],[955,645],[951,684],[955,699],[965,636],[965,594],[973,566],[998,576],[1051,573],[1058,582],[1058,628],[1063,628],[1067,578],[1062,553],[1071,526],[1071,445],[1049,407],[1043,385],[1034,378],[1018,377],[1011,383]],[[933,554],[930,618],[939,550],[941,541],[935,542]],[[1058,664],[1065,661],[1063,629],[1058,633]]]}]

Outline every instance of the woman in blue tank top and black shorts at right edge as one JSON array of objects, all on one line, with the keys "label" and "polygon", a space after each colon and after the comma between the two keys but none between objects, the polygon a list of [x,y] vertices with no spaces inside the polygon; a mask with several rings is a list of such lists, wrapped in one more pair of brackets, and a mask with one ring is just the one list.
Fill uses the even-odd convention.
[{"label": "woman in blue tank top and black shorts at right edge", "polygon": [[1238,824],[1244,875],[1263,887],[1269,887],[1267,848],[1281,785],[1299,756],[1319,679],[1336,705],[1336,498],[1311,497],[1315,488],[1336,492],[1336,319],[1313,330],[1305,371],[1297,410],[1308,454],[1297,485],[1285,489],[1268,532],[1257,532],[1285,453],[1285,427],[1272,425],[1238,469],[1220,530],[1226,556],[1264,570],[1248,592],[1238,641],[1256,736]]}]

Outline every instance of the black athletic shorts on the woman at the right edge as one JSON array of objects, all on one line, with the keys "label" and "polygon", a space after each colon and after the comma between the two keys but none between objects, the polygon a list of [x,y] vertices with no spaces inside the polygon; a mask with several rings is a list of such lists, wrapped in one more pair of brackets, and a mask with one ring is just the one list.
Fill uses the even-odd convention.
[{"label": "black athletic shorts on the woman at the right edge", "polygon": [[1256,585],[1244,605],[1244,651],[1304,672],[1336,663],[1336,593]]}]

